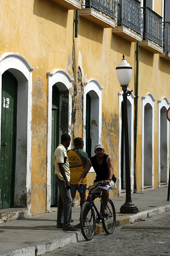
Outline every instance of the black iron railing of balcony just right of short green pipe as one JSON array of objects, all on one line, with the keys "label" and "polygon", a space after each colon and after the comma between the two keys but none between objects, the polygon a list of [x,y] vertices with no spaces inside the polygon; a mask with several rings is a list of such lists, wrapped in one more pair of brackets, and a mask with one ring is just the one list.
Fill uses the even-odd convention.
[{"label": "black iron railing of balcony just right of short green pipe", "polygon": [[114,19],[114,0],[83,0],[83,8],[94,8]]}]

